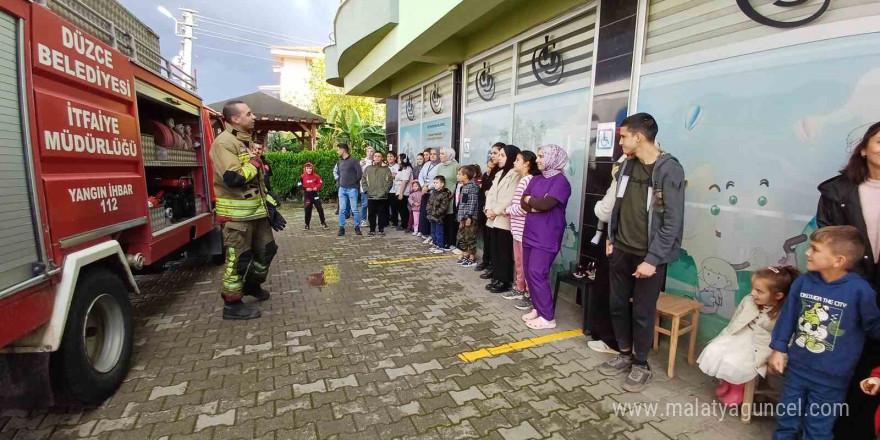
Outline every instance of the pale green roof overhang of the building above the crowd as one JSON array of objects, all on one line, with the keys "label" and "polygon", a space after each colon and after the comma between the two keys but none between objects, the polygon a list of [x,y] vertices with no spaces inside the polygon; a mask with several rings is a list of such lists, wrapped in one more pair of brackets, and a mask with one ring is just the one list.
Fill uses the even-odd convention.
[{"label": "pale green roof overhang of the building above the crowd", "polygon": [[[348,95],[387,97],[589,0],[347,0],[336,44],[324,48],[327,82]],[[393,5],[392,5],[393,4]],[[379,13],[396,5],[396,16]],[[369,17],[369,19],[365,19]],[[367,23],[370,22],[370,23]],[[352,41],[357,39],[357,41]]]}]

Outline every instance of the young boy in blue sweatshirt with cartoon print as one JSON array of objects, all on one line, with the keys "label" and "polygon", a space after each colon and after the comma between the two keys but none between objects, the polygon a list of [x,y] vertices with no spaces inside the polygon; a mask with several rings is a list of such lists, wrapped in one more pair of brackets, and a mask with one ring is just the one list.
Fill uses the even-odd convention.
[{"label": "young boy in blue sweatshirt with cartoon print", "polygon": [[850,273],[864,248],[852,226],[828,226],[810,236],[809,272],[792,284],[770,342],[770,367],[780,373],[788,367],[774,440],[795,439],[800,431],[805,439],[830,440],[865,334],[880,338],[876,294]]}]

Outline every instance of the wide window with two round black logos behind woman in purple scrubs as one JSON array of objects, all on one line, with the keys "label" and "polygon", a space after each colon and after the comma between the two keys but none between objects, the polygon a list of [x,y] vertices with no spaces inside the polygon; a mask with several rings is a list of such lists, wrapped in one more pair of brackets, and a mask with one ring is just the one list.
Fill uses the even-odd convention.
[{"label": "wide window with two round black logos behind woman in purple scrubs", "polygon": [[467,61],[463,76],[462,163],[484,166],[499,141],[536,154],[545,144],[568,152],[562,267],[577,260],[580,244],[595,26],[592,8],[560,17]]}]

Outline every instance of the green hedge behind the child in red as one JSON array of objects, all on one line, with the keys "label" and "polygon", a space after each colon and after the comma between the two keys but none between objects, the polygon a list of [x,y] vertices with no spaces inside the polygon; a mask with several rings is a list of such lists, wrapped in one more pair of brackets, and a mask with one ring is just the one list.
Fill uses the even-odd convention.
[{"label": "green hedge behind the child in red", "polygon": [[301,151],[299,153],[269,152],[265,156],[272,165],[272,189],[280,197],[301,192],[297,184],[303,172],[302,167],[306,162],[315,166],[315,172],[324,181],[324,187],[318,194],[322,198],[336,197],[336,179],[333,178],[333,166],[338,160],[336,150]]}]

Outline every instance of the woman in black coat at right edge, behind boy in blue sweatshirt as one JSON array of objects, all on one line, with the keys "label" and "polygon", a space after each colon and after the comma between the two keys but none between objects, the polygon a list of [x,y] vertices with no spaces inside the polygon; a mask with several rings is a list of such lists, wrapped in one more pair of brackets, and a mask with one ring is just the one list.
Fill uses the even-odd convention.
[{"label": "woman in black coat at right edge, behind boy in blue sweatshirt", "polygon": [[[880,198],[876,197],[877,185],[880,185],[880,122],[868,128],[861,142],[853,148],[849,163],[840,175],[819,185],[821,196],[816,213],[816,224],[820,228],[846,225],[862,233],[866,244],[865,255],[852,270],[871,283],[875,290],[880,288],[880,268],[877,264],[880,243],[876,239],[874,243],[871,242],[870,231],[880,228],[880,218],[866,219],[862,208],[866,204],[876,206],[880,203]],[[835,439],[874,438],[874,413],[880,405],[880,396],[865,394],[859,382],[878,366],[880,341],[866,337],[862,357],[847,392],[849,415],[838,417],[834,427]]]}]

